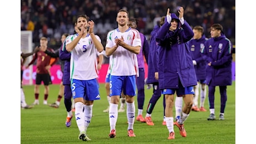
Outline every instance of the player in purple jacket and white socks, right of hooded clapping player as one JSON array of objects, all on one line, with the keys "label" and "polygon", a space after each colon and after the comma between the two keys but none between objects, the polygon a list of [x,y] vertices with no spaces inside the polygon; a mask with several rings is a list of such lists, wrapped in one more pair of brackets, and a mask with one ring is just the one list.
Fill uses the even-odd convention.
[{"label": "player in purple jacket and white socks, right of hooded clapping player", "polygon": [[[194,86],[194,103],[192,111],[206,111],[204,109],[204,101],[206,97],[206,61],[201,55],[201,50],[204,48],[204,42],[208,39],[204,35],[204,28],[196,25],[193,28],[194,37],[189,41],[189,48],[192,54],[193,64],[195,67],[196,79],[198,84]],[[198,96],[200,89],[200,106],[198,107]]]}]

